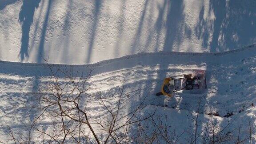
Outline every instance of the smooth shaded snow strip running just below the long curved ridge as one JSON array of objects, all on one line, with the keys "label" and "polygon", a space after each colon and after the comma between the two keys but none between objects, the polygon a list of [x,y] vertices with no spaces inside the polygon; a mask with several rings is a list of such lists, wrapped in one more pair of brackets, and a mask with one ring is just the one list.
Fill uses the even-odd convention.
[{"label": "smooth shaded snow strip running just below the long curved ridge", "polygon": [[[256,44],[248,45],[240,49],[216,52],[148,52],[135,55],[123,56],[116,59],[104,60],[95,64],[50,64],[57,68],[72,68],[76,71],[87,71],[94,68],[94,74],[112,72],[123,68],[133,68],[150,64],[224,64],[238,59],[253,57],[256,54]],[[206,59],[207,58],[207,59]],[[15,70],[13,69],[15,67]],[[8,62],[0,60],[0,73],[24,75],[48,76],[47,64]],[[35,69],[36,68],[36,69]],[[14,70],[14,71],[13,71]]]}]

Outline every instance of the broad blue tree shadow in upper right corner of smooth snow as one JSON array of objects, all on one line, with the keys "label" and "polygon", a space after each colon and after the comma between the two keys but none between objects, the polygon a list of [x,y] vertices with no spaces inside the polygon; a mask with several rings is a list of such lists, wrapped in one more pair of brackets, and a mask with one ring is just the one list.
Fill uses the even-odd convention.
[{"label": "broad blue tree shadow in upper right corner of smooth snow", "polygon": [[255,7],[256,2],[251,0],[211,0],[206,13],[202,6],[195,27],[197,38],[203,40],[202,47],[210,52],[223,52],[254,43]]}]

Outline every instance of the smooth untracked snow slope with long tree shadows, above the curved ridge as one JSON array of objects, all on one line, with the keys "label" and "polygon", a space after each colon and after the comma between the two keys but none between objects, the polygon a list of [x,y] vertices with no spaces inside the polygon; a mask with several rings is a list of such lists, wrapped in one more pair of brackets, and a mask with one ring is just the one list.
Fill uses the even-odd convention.
[{"label": "smooth untracked snow slope with long tree shadows, above the curved ridge", "polygon": [[[26,2],[27,1],[27,2]],[[0,59],[88,64],[256,42],[253,0],[0,0]]]}]

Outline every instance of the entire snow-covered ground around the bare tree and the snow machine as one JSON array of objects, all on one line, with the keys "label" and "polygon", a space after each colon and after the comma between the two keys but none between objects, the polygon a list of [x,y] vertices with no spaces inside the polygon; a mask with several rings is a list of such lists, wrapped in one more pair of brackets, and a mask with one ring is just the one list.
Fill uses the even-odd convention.
[{"label": "entire snow-covered ground around the bare tree and the snow machine", "polygon": [[[0,0],[0,142],[14,142],[8,126],[26,135],[24,125],[39,115],[14,106],[50,81],[44,57],[54,70],[93,69],[89,92],[102,92],[108,106],[125,80],[121,107],[132,111],[146,97],[141,115],[156,108],[172,143],[204,143],[211,120],[221,135],[232,133],[229,143],[256,143],[255,8],[253,0]],[[206,90],[155,96],[165,77],[195,69],[206,71]],[[85,101],[90,116],[106,116],[95,100]],[[45,142],[36,132],[32,141]]]}]

